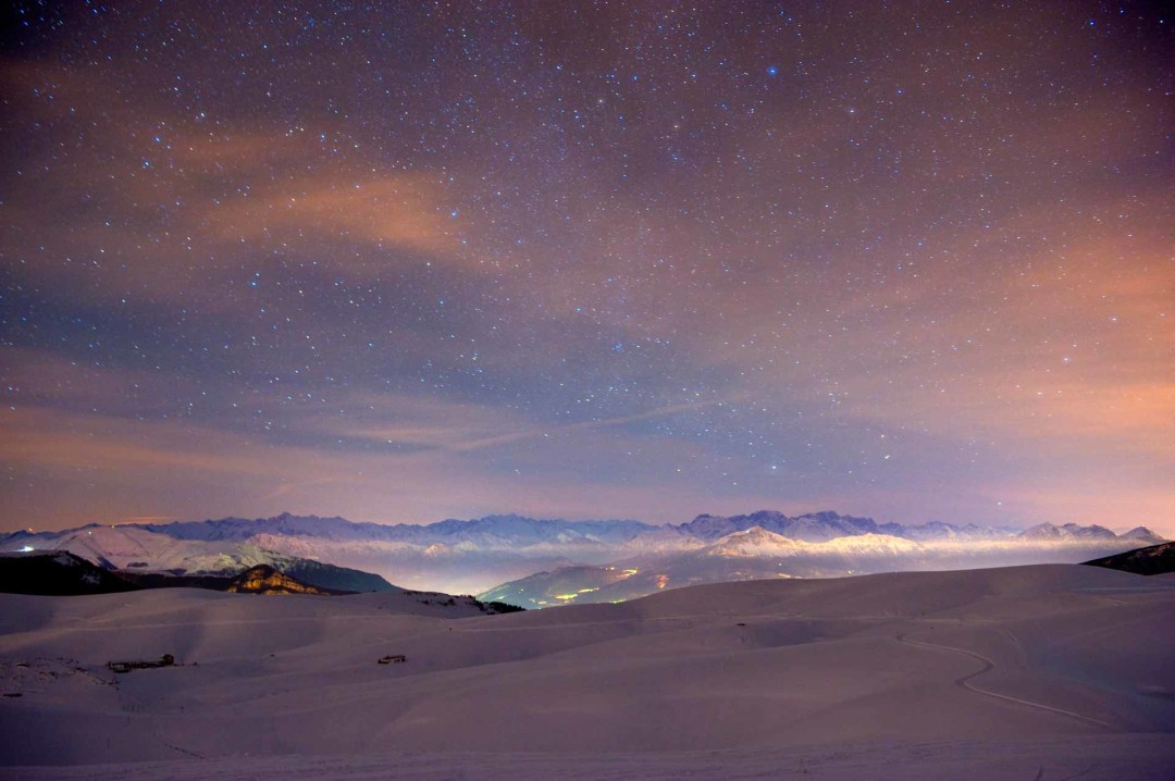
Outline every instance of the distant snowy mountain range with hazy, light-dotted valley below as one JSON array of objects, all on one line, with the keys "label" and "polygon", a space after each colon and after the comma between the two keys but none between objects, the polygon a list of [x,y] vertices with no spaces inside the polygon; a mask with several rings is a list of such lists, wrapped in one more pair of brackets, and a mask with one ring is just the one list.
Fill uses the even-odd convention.
[{"label": "distant snowy mountain range with hazy, light-dotted valley below", "polygon": [[[1141,526],[1124,534],[1076,524],[907,526],[835,512],[790,517],[770,510],[701,514],[665,526],[515,514],[382,525],[282,513],[20,531],[0,537],[0,551],[65,550],[108,567],[186,573],[310,559],[374,572],[409,588],[481,592],[533,607],[753,578],[1076,563],[1160,541]],[[583,585],[568,591],[573,584]]]}]

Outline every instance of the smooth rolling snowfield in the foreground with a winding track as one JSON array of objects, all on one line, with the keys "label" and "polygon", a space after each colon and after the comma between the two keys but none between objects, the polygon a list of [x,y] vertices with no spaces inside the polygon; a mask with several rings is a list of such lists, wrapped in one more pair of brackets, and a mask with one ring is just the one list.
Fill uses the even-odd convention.
[{"label": "smooth rolling snowfield in the foreground with a winding track", "polygon": [[1033,566],[444,615],[395,593],[0,595],[0,776],[1161,779],[1175,759],[1163,579]]}]

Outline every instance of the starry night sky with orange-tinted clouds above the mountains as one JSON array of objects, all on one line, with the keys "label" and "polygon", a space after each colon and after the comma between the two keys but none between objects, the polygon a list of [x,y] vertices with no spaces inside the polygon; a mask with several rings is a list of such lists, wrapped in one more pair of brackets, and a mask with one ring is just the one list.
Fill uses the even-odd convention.
[{"label": "starry night sky with orange-tinted clouds above the mountains", "polygon": [[0,527],[1173,533],[1160,9],[15,2]]}]

